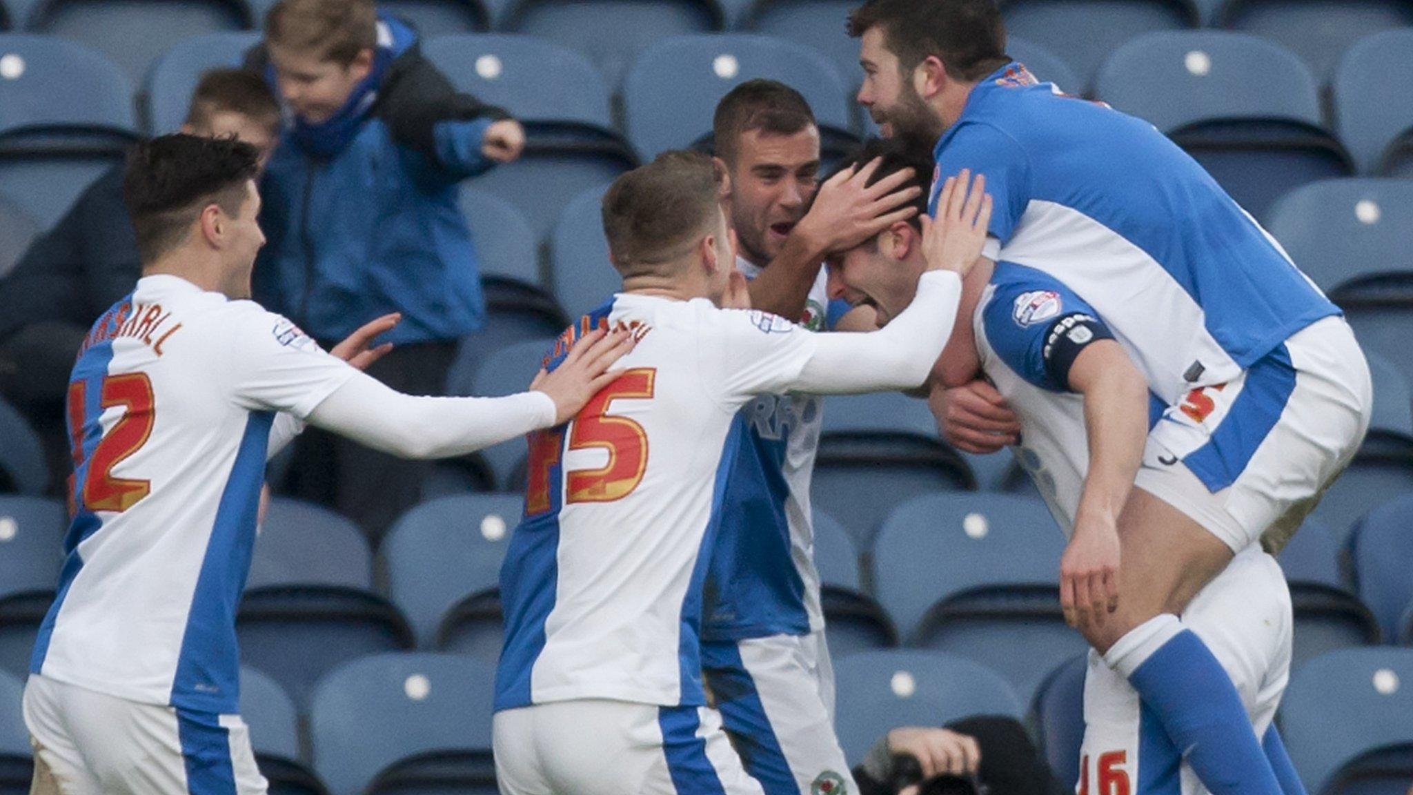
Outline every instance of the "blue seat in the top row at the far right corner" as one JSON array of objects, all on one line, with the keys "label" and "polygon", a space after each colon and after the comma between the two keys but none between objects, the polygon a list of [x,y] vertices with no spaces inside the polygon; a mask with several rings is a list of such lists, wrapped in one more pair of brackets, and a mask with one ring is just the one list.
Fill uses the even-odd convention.
[{"label": "blue seat in the top row at the far right corner", "polygon": [[[1320,82],[1369,34],[1413,25],[1407,0],[1226,0],[1217,24],[1269,38],[1300,55]],[[1403,66],[1407,68],[1406,65]],[[1390,79],[1381,75],[1375,79]],[[1396,81],[1396,78],[1393,78]],[[1392,96],[1392,95],[1390,95]]]}]

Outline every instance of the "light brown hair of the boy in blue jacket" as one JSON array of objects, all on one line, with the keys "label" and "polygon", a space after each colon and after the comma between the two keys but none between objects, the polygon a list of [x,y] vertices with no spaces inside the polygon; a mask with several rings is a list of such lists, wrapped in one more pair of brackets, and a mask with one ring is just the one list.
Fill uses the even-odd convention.
[{"label": "light brown hair of the boy in blue jacket", "polygon": [[280,0],[266,13],[266,41],[348,66],[377,47],[373,0]]}]

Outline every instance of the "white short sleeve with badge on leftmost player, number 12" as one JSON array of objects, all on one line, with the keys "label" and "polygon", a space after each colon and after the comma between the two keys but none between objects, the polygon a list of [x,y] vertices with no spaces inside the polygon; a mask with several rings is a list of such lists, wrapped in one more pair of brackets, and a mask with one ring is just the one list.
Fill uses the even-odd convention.
[{"label": "white short sleeve with badge on leftmost player, number 12", "polygon": [[287,412],[302,420],[357,372],[254,303],[233,303],[230,314],[227,359],[218,366],[244,409]]}]

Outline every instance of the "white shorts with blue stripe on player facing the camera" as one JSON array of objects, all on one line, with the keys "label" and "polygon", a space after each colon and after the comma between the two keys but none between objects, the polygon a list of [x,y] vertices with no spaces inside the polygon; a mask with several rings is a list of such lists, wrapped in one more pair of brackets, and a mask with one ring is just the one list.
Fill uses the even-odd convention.
[{"label": "white shorts with blue stripe on player facing the camera", "polygon": [[852,784],[821,695],[812,635],[706,644],[702,661],[726,731],[769,795]]}]

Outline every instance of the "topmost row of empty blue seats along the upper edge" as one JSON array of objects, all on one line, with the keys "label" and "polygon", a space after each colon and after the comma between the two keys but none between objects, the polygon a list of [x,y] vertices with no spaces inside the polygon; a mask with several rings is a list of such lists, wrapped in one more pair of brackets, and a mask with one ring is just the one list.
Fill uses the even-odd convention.
[{"label": "topmost row of empty blue seats along the upper edge", "polygon": [[[167,44],[191,35],[260,27],[271,0],[165,3],[6,0],[0,30],[71,38],[107,52],[140,81]],[[653,42],[681,34],[756,31],[817,48],[856,83],[858,42],[845,34],[855,0],[386,0],[425,35],[495,28],[544,37],[579,51],[609,79]],[[1136,35],[1204,24],[1259,34],[1296,51],[1321,79],[1361,37],[1413,24],[1399,0],[1016,0],[1002,4],[1012,34],[1060,54],[1088,82],[1109,52]],[[1074,91],[1082,91],[1077,86]]]}]

